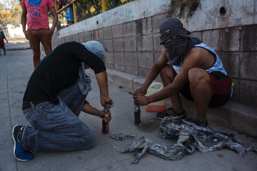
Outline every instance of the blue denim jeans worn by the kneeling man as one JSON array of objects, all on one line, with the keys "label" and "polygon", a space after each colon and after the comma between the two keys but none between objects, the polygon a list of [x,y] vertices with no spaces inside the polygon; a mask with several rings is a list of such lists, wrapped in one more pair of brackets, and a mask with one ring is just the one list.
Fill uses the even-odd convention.
[{"label": "blue denim jeans worn by the kneeling man", "polygon": [[50,101],[39,103],[23,114],[30,126],[22,136],[26,150],[40,152],[64,152],[84,150],[95,143],[95,134],[79,118],[86,99],[77,81],[58,93],[59,104]]}]

